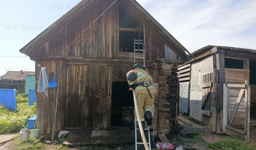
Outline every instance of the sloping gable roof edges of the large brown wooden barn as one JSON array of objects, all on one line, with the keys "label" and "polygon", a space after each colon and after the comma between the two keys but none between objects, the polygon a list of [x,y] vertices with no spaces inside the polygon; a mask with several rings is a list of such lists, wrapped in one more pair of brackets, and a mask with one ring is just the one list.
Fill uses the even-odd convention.
[{"label": "sloping gable roof edges of the large brown wooden barn", "polygon": [[[60,19],[55,21],[52,25],[50,25],[48,28],[46,28],[43,32],[41,32],[38,36],[36,36],[33,40],[31,40],[29,43],[27,43],[23,48],[21,48],[19,51],[23,54],[26,54],[28,56],[31,56],[35,51],[31,52],[31,49],[33,49],[33,46],[38,44],[38,42],[43,39],[44,37],[48,36],[50,33],[54,31],[59,25],[65,24],[65,21],[72,16],[76,15],[82,8],[90,5],[93,1],[97,0],[82,0],[79,4],[77,4],[74,8],[72,8],[70,11],[65,13]],[[99,1],[99,0],[98,0]],[[119,0],[121,2],[121,0]],[[124,0],[122,0],[124,1]],[[144,17],[147,17],[147,20],[149,20],[156,28],[159,29],[160,34],[168,39],[168,41],[172,42],[176,46],[176,49],[174,52],[184,61],[187,62],[190,60],[189,56],[185,53],[189,51],[182,46],[178,40],[176,40],[161,24],[158,23],[157,20],[154,19],[147,11],[144,9],[136,0],[126,0],[134,5],[138,11],[140,11]],[[168,43],[166,43],[168,45]]]}]

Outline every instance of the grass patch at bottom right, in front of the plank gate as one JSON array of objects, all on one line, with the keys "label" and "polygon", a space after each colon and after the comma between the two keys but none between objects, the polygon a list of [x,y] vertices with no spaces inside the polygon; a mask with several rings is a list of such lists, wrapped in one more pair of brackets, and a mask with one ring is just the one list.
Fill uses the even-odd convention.
[{"label": "grass patch at bottom right, in front of the plank gate", "polygon": [[215,150],[256,150],[255,146],[235,135],[229,136],[223,141],[207,143],[206,146]]}]

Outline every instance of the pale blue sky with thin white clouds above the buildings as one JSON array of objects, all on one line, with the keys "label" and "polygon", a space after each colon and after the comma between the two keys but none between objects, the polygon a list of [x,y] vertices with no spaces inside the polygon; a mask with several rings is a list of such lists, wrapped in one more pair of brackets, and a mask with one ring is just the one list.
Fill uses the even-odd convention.
[{"label": "pale blue sky with thin white clouds above the buildings", "polygon": [[[256,49],[255,0],[137,0],[188,51],[207,45]],[[80,0],[1,0],[0,56],[19,52]],[[34,71],[29,57],[0,57],[0,75]]]}]

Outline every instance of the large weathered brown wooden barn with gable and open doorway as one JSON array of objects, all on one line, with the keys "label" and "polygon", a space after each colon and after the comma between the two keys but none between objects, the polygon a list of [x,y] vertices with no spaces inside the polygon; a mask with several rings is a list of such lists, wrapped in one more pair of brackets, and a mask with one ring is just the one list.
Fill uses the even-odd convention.
[{"label": "large weathered brown wooden barn with gable and open doorway", "polygon": [[[132,128],[123,112],[133,107],[125,74],[133,64],[134,39],[143,40],[146,71],[159,87],[156,127],[160,133],[175,131],[177,66],[190,58],[135,0],[83,0],[20,50],[47,66],[48,80],[51,72],[60,79],[57,131]],[[56,92],[48,89],[48,97],[37,92],[42,132],[52,131]]]}]

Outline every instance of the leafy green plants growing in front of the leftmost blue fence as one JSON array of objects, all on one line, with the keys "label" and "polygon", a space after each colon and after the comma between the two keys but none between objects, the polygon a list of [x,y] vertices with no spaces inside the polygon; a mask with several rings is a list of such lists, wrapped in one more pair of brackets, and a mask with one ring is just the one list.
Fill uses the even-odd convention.
[{"label": "leafy green plants growing in front of the leftmost blue fence", "polygon": [[17,105],[17,112],[0,104],[0,134],[19,132],[27,127],[27,119],[36,115],[36,106],[28,107],[28,102]]}]

